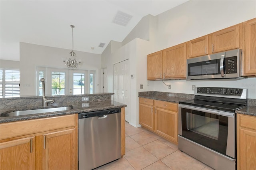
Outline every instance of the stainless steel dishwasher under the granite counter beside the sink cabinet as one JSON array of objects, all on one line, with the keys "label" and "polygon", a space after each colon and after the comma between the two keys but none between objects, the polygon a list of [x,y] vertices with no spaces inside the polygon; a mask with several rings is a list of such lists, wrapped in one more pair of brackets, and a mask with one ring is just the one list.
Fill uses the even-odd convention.
[{"label": "stainless steel dishwasher under the granite counter beside the sink cabinet", "polygon": [[78,169],[121,158],[121,109],[78,114]]}]

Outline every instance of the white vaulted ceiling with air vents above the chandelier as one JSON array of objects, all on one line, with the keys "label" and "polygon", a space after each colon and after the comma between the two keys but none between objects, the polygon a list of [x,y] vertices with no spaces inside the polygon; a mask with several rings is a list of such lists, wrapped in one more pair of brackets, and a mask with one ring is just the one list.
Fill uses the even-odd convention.
[{"label": "white vaulted ceiling with air vents above the chandelier", "polygon": [[[156,16],[188,0],[0,1],[0,59],[19,61],[19,42],[101,54],[110,40],[122,42],[142,17]],[[115,14],[132,16],[127,26]],[[106,43],[104,47],[98,47]],[[94,47],[92,50],[91,47]]]}]

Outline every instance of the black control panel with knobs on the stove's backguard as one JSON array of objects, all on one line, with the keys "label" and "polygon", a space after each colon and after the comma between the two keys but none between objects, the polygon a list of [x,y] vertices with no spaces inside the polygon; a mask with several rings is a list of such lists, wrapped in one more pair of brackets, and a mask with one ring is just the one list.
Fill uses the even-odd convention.
[{"label": "black control panel with knobs on the stove's backguard", "polygon": [[199,94],[212,94],[212,95],[232,95],[241,96],[243,89],[226,88],[226,87],[197,87]]}]

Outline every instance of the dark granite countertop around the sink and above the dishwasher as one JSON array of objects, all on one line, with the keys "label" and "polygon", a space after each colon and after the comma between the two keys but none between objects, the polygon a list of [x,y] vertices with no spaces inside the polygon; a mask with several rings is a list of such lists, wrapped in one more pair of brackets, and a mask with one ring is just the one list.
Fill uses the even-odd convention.
[{"label": "dark granite countertop around the sink and above the dishwasher", "polygon": [[[82,105],[83,104],[83,105]],[[71,105],[65,105],[71,106]],[[26,107],[20,109],[1,109],[0,114],[9,113],[13,111],[21,111],[21,110],[31,110],[31,109],[45,109],[45,108],[52,108],[52,107],[64,107],[63,105],[51,105],[49,107]],[[62,115],[71,115],[76,113],[86,113],[92,111],[100,111],[106,109],[117,109],[121,107],[126,107],[125,104],[118,103],[116,101],[98,101],[98,102],[89,102],[89,106],[84,106],[84,103],[78,102],[72,104],[73,109],[68,111],[58,111],[58,112],[49,112],[49,113],[38,113],[32,115],[20,115],[14,117],[0,117],[0,123],[8,123],[8,122],[15,122],[15,121],[25,121],[31,119],[40,119],[46,117],[56,117]]]}]

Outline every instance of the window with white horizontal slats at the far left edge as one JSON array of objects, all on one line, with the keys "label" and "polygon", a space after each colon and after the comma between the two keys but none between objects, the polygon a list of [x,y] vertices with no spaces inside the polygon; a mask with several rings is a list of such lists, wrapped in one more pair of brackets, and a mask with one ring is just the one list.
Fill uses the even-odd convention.
[{"label": "window with white horizontal slats at the far left edge", "polygon": [[20,70],[0,69],[0,97],[20,97]]}]

